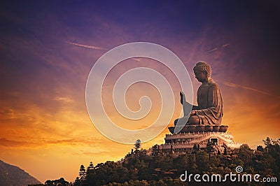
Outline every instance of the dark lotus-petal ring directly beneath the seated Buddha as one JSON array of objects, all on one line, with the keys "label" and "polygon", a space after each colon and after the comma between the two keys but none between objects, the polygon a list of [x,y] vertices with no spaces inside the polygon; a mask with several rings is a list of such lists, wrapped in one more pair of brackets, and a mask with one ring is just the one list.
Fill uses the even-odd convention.
[{"label": "dark lotus-petal ring directly beneath the seated Buddha", "polygon": [[[175,127],[168,127],[169,131],[174,134]],[[208,131],[219,131],[219,132],[226,132],[228,130],[227,125],[194,125],[188,124],[179,133],[186,133],[186,132],[208,132]]]}]

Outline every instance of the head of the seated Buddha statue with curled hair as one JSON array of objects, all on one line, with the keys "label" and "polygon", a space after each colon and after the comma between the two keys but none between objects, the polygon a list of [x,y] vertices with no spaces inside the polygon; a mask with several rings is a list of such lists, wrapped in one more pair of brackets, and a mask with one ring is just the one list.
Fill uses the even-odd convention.
[{"label": "head of the seated Buddha statue with curled hair", "polygon": [[193,67],[193,72],[199,82],[204,82],[204,80],[211,76],[211,66],[206,62],[197,62],[195,67]]}]

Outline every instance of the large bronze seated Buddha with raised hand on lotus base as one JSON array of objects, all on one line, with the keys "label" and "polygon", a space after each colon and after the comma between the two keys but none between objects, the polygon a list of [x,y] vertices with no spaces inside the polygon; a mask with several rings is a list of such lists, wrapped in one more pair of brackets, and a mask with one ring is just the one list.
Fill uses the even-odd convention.
[{"label": "large bronze seated Buddha with raised hand on lotus base", "polygon": [[[221,126],[223,117],[223,99],[218,84],[211,79],[211,66],[206,62],[197,62],[193,68],[195,78],[202,83],[197,90],[198,106],[191,106],[186,101],[185,94],[180,92],[181,103],[183,105],[184,117],[179,118],[186,124],[181,132],[193,131],[223,131],[228,129],[228,126]],[[192,110],[188,111],[192,107]],[[189,114],[190,113],[190,114]],[[188,117],[189,116],[189,117]],[[187,119],[188,118],[188,119]],[[174,121],[176,123],[178,120]],[[172,129],[170,129],[172,128]],[[169,130],[174,131],[174,127],[169,127]],[[173,133],[173,132],[172,132]]]}]

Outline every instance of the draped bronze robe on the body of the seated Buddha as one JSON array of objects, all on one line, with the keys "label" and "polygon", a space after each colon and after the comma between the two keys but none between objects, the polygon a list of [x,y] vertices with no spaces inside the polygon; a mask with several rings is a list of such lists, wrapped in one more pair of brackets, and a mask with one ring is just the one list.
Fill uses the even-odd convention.
[{"label": "draped bronze robe on the body of the seated Buddha", "polygon": [[213,80],[200,85],[197,90],[195,115],[200,118],[200,124],[220,125],[223,117],[223,99],[220,88]]}]

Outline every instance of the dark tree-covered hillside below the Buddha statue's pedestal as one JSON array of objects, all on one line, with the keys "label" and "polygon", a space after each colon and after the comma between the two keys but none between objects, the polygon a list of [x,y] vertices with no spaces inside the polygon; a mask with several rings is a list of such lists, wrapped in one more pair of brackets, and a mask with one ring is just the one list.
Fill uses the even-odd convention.
[{"label": "dark tree-covered hillside below the Buddha statue's pedestal", "polygon": [[[261,178],[274,177],[279,182],[279,144],[272,143],[270,138],[264,142],[265,148],[258,146],[256,150],[252,150],[248,145],[242,145],[227,155],[217,155],[213,150],[201,151],[197,148],[192,152],[177,154],[163,153],[155,146],[153,156],[146,155],[146,150],[136,150],[122,162],[105,162],[97,166],[90,163],[87,169],[80,166],[79,177],[73,185],[192,185],[179,179],[185,171],[193,175],[225,175],[236,173],[237,166],[243,168],[241,173],[258,173]],[[228,183],[230,184],[230,180]]]}]

